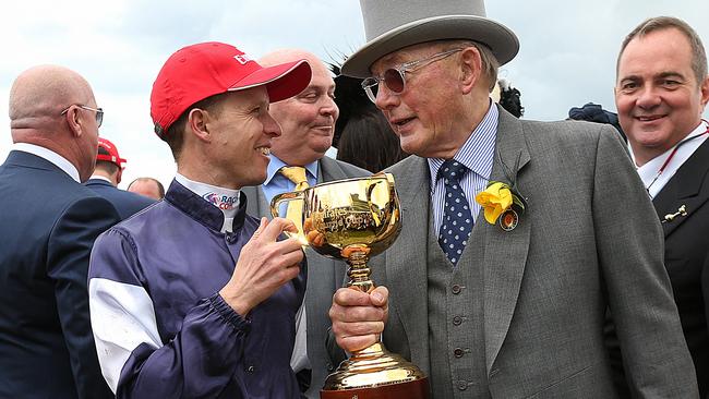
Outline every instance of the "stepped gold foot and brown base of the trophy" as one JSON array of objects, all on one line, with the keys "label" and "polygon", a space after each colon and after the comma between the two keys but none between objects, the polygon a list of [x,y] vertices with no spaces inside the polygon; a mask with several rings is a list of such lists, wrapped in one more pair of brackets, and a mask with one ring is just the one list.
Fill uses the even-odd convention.
[{"label": "stepped gold foot and brown base of the trophy", "polygon": [[358,351],[325,380],[321,399],[429,398],[429,380],[381,342]]}]

